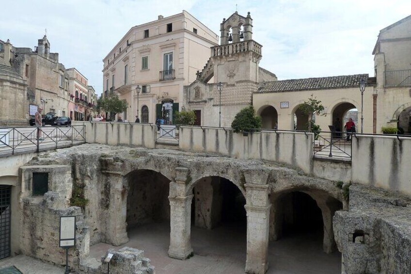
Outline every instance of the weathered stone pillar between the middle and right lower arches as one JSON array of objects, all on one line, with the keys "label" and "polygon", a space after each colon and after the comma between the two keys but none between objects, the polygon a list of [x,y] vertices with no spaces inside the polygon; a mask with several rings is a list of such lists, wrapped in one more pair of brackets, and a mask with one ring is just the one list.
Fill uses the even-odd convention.
[{"label": "weathered stone pillar between the middle and right lower arches", "polygon": [[264,274],[268,269],[269,247],[269,186],[268,174],[262,170],[247,170],[247,261],[245,273]]}]

